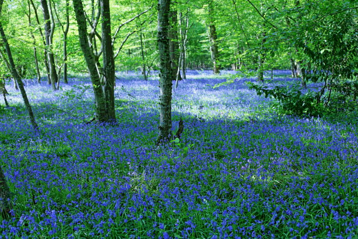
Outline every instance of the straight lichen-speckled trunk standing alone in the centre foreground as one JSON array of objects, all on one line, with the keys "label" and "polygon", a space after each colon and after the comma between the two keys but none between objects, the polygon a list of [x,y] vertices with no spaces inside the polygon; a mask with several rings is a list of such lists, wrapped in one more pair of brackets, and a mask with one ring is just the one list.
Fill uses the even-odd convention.
[{"label": "straight lichen-speckled trunk standing alone in the centre foreground", "polygon": [[157,144],[171,139],[172,69],[169,55],[170,0],[158,0],[158,48],[160,57],[160,124]]}]

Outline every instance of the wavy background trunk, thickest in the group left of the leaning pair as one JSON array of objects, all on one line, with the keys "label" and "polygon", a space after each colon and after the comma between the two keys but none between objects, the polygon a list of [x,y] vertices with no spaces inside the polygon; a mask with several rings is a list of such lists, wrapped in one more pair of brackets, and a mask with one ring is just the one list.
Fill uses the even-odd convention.
[{"label": "wavy background trunk, thickest in the group left of the leaning pair", "polygon": [[46,46],[48,48],[47,57],[48,57],[49,68],[50,68],[50,80],[52,84],[52,89],[56,91],[57,90],[56,83],[58,78],[56,73],[55,58],[52,52],[52,37],[54,34],[55,25],[54,25],[54,21],[50,19],[50,12],[49,12],[49,7],[47,5],[47,0],[41,0],[41,6],[43,11]]}]

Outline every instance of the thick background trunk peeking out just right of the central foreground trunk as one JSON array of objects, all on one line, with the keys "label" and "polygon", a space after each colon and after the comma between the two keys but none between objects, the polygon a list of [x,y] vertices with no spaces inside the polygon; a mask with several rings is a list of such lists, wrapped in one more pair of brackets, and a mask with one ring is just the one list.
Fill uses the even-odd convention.
[{"label": "thick background trunk peeking out just right of the central foreground trunk", "polygon": [[170,27],[168,31],[169,37],[169,52],[170,52],[170,60],[171,60],[171,69],[173,72],[172,80],[182,80],[182,76],[180,75],[180,71],[178,71],[179,62],[179,42],[178,42],[178,17],[177,11],[171,10],[169,12],[169,21]]}]

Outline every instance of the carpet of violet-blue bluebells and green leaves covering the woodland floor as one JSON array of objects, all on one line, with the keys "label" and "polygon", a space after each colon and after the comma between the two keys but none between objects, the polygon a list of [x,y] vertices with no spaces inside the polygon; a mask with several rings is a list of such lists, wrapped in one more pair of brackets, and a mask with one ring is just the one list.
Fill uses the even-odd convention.
[{"label": "carpet of violet-blue bluebells and green leaves covering the woodland floor", "polygon": [[118,73],[113,125],[86,123],[88,78],[57,92],[26,80],[40,131],[8,86],[0,164],[14,206],[0,237],[357,238],[357,125],[279,116],[254,79],[212,87],[227,77],[188,72],[172,102],[184,133],[162,146],[158,76]]}]

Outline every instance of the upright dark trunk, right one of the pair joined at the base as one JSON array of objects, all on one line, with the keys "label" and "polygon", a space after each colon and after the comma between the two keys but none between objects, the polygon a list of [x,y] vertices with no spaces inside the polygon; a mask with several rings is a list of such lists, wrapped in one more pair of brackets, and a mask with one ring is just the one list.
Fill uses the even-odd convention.
[{"label": "upright dark trunk, right one of the pair joined at the base", "polygon": [[102,52],[104,73],[104,96],[108,121],[116,122],[115,111],[115,58],[110,31],[109,0],[101,0]]}]

